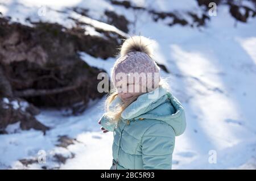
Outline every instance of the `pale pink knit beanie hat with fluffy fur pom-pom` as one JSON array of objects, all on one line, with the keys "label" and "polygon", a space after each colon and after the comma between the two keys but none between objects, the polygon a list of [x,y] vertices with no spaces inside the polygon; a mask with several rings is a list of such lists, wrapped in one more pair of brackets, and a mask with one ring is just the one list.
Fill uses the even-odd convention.
[{"label": "pale pink knit beanie hat with fluffy fur pom-pom", "polygon": [[127,82],[132,80],[135,85],[144,87],[147,92],[159,86],[160,68],[152,58],[151,43],[152,40],[144,36],[132,36],[125,40],[120,57],[112,69],[112,82],[115,87],[124,80],[124,77],[119,79],[118,73],[126,75]]}]

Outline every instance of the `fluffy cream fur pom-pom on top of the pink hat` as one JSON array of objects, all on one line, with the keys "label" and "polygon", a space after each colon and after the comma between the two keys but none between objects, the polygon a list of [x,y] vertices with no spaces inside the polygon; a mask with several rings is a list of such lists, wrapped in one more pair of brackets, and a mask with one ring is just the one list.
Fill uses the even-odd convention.
[{"label": "fluffy cream fur pom-pom on top of the pink hat", "polygon": [[146,53],[148,56],[151,57],[152,48],[150,44],[152,43],[151,39],[148,39],[144,36],[131,36],[129,39],[126,39],[123,42],[121,47],[120,55],[125,56],[127,53],[138,51]]}]

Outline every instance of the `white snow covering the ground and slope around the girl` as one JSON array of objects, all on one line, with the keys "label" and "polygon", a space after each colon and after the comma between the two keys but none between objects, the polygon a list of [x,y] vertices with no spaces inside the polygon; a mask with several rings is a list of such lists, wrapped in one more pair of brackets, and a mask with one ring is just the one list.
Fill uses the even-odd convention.
[{"label": "white snow covering the ground and slope around the girl", "polygon": [[[162,76],[168,78],[187,116],[187,129],[176,138],[173,169],[256,169],[256,18],[246,24],[236,22],[228,7],[220,6],[207,27],[170,27],[164,21],[154,22],[147,12],[114,6],[109,1],[57,2],[0,1],[0,12],[23,23],[30,16],[65,26],[72,26],[72,21],[52,9],[88,7],[92,10],[90,16],[98,20],[104,9],[123,14],[131,22],[136,18],[137,24],[130,30],[155,40],[155,59],[171,71],[162,72]],[[159,11],[185,11],[196,6],[194,1],[133,2]],[[46,13],[39,16],[42,7],[46,7]],[[114,64],[114,58],[101,60],[80,54],[88,64],[108,73]],[[10,125],[10,134],[0,135],[0,169],[24,169],[18,160],[37,158],[39,150],[46,151],[46,163],[33,163],[28,169],[109,169],[113,136],[99,130],[97,121],[103,113],[104,98],[90,103],[79,116],[43,110],[37,118],[51,127],[45,136],[40,131],[20,131],[17,125]],[[58,136],[63,135],[76,138],[67,149],[55,146]],[[59,164],[52,159],[56,153],[71,158]]]}]

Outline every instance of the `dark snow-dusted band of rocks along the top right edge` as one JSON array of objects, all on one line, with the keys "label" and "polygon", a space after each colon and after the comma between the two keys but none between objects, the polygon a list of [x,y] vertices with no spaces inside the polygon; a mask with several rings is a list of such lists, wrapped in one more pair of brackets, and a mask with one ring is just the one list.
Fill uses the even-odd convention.
[{"label": "dark snow-dusted band of rocks along the top right edge", "polygon": [[[191,27],[201,27],[205,26],[207,21],[210,20],[210,16],[208,15],[209,3],[216,3],[217,6],[220,5],[228,5],[230,15],[232,15],[236,20],[240,22],[246,22],[247,18],[255,17],[256,11],[251,9],[249,6],[239,5],[240,1],[224,1],[224,0],[196,0],[197,5],[203,7],[200,13],[195,13],[195,11],[186,11],[186,12],[177,12],[177,11],[158,11],[152,7],[140,7],[134,5],[134,3],[130,1],[115,1],[109,0],[112,5],[123,6],[126,9],[147,11],[149,15],[152,15],[152,19],[157,22],[158,20],[163,20],[170,18],[170,22],[167,23],[169,26],[174,26],[176,24],[180,24],[181,26],[191,26]],[[255,0],[248,0],[254,5],[256,5]],[[242,14],[242,12],[245,12]],[[184,15],[183,15],[184,14]],[[187,18],[189,17],[189,19]],[[192,21],[190,20],[192,19]],[[166,21],[166,20],[165,20]],[[167,21],[166,21],[167,22]]]}]

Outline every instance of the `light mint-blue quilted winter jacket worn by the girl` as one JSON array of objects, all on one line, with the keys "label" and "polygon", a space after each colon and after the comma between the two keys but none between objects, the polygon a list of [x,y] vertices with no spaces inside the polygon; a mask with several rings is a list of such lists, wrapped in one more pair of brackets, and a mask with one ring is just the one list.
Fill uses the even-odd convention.
[{"label": "light mint-blue quilted winter jacket worn by the girl", "polygon": [[[120,102],[118,97],[110,109]],[[185,131],[185,113],[179,100],[159,87],[140,95],[121,114],[119,124],[101,125],[114,133],[110,169],[171,169],[175,136]]]}]

